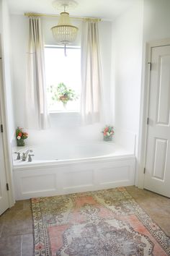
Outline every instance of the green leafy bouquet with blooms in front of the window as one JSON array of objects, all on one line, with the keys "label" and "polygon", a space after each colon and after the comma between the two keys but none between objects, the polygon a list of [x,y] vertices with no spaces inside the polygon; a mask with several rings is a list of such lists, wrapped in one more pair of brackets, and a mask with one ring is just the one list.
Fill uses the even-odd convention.
[{"label": "green leafy bouquet with blooms in front of the window", "polygon": [[48,89],[51,94],[52,101],[61,101],[63,105],[66,105],[68,101],[76,101],[78,95],[76,95],[75,90],[68,88],[63,82],[56,85],[50,85]]}]

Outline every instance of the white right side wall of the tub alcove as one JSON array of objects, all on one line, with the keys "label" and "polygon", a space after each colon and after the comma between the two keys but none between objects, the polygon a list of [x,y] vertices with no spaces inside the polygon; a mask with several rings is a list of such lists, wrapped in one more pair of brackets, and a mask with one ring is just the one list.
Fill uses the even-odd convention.
[{"label": "white right side wall of the tub alcove", "polygon": [[130,134],[138,139],[142,42],[143,1],[138,0],[112,25],[113,121],[124,140]]}]

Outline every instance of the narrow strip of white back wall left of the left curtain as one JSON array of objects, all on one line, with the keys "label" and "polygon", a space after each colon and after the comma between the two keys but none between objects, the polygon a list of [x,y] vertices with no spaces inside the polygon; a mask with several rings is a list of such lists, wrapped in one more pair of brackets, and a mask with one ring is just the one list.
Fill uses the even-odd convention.
[{"label": "narrow strip of white back wall left of the left curtain", "polygon": [[16,127],[24,127],[24,93],[26,82],[27,36],[29,27],[26,17],[20,15],[14,17],[11,17],[14,119]]}]

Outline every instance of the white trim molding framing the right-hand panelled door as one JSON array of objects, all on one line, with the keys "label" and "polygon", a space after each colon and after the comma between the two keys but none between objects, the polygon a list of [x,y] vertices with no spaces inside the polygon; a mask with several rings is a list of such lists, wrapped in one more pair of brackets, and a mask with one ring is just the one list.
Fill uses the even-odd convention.
[{"label": "white trim molding framing the right-hand panelled door", "polygon": [[146,43],[143,54],[143,70],[141,80],[141,95],[140,95],[140,129],[139,129],[139,144],[138,144],[138,187],[144,188],[144,168],[146,163],[146,142],[148,133],[148,106],[149,106],[149,91],[150,91],[150,65],[151,49],[158,46],[169,46],[170,38],[154,40]]}]

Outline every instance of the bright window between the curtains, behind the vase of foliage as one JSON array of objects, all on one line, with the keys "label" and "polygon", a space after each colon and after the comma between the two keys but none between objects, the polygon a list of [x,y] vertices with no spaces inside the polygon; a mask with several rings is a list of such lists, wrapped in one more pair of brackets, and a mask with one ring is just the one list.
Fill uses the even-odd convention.
[{"label": "bright window between the curtains, behind the vase of foliage", "polygon": [[81,49],[45,47],[48,110],[79,111],[81,93]]}]

